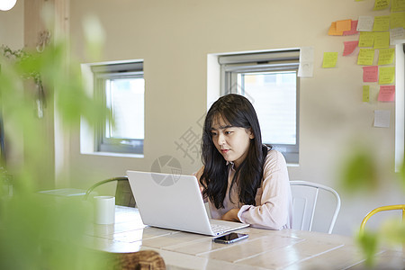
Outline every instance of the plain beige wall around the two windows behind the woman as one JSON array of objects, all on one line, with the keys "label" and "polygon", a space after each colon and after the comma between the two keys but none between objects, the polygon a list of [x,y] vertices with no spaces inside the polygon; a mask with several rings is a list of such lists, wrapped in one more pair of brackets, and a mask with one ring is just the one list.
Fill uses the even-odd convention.
[{"label": "plain beige wall around the two windows behind the woman", "polygon": [[[82,22],[95,14],[106,32],[101,61],[143,58],[146,79],[145,157],[81,155],[79,134],[71,134],[70,163],[80,165],[71,185],[87,187],[98,180],[124,175],[126,169],[150,170],[157,157],[177,158],[183,173],[201,166],[176,149],[190,128],[198,137],[197,121],[206,110],[207,55],[231,51],[315,48],[314,76],[301,79],[300,164],[289,167],[292,180],[330,185],[343,204],[334,232],[352,234],[374,207],[400,203],[403,194],[393,183],[394,103],[362,103],[362,68],[356,53],[342,57],[343,41],[358,36],[328,35],[330,23],[356,20],[374,12],[374,1],[353,0],[71,0],[74,52],[84,57]],[[321,68],[323,52],[338,51],[337,68]],[[211,59],[208,59],[211,60]],[[391,111],[389,129],[373,128],[374,110]],[[341,163],[358,140],[373,148],[386,166],[384,187],[374,194],[348,196],[339,185]],[[402,197],[401,197],[402,196]]]}]

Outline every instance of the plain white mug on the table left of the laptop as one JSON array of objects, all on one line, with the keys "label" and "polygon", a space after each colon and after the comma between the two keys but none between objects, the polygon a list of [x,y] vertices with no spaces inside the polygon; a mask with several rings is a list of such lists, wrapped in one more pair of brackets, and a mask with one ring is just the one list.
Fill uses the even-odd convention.
[{"label": "plain white mug on the table left of the laptop", "polygon": [[115,197],[94,196],[94,223],[113,224],[115,221]]}]

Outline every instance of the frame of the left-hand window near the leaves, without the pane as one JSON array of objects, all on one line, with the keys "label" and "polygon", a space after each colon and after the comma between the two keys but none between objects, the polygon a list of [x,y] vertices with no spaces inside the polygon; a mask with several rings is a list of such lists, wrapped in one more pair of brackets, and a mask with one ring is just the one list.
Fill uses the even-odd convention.
[{"label": "frame of the left-hand window near the leaves, without the pane", "polygon": [[[94,65],[94,96],[106,105],[105,81],[119,78],[144,78],[143,61]],[[145,91],[145,90],[144,90]],[[145,103],[145,99],[143,100]],[[145,117],[145,114],[144,114]],[[106,138],[107,123],[104,121],[95,127],[94,150],[96,152],[143,154],[144,139]]]}]

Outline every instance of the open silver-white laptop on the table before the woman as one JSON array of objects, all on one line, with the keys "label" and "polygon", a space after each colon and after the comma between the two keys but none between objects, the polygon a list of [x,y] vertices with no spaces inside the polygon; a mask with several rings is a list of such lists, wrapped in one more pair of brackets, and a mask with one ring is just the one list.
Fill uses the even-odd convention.
[{"label": "open silver-white laptop on the table before the woman", "polygon": [[218,236],[248,224],[210,220],[193,175],[127,171],[145,225]]}]

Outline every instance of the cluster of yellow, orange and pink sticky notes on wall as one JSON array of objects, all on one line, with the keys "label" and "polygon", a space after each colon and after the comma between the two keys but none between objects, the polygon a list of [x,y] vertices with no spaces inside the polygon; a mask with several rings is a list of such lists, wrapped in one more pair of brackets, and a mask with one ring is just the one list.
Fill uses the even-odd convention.
[{"label": "cluster of yellow, orange and pink sticky notes on wall", "polygon": [[[374,11],[389,14],[358,16],[356,20],[339,20],[329,27],[330,36],[358,35],[358,40],[343,41],[342,57],[357,57],[363,67],[363,102],[373,102],[370,91],[377,86],[378,102],[395,101],[395,48],[405,39],[405,1],[375,0]],[[357,55],[354,53],[358,49]],[[336,67],[338,52],[325,52],[322,67]],[[359,78],[361,79],[361,78]],[[368,92],[368,93],[367,93]]]}]

